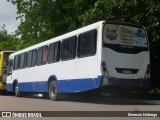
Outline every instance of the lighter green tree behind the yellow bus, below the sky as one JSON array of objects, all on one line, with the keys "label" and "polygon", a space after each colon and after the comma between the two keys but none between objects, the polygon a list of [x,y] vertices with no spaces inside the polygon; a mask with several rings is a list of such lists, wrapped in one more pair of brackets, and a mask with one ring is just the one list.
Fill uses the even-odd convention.
[{"label": "lighter green tree behind the yellow bus, below the sky", "polygon": [[0,51],[16,51],[19,49],[20,42],[18,38],[15,35],[8,34],[5,25],[0,26]]}]

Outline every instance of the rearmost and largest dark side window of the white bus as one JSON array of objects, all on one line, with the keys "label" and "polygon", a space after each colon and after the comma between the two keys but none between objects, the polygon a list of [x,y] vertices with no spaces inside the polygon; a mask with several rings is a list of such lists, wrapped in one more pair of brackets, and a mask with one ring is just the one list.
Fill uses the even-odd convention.
[{"label": "rearmost and largest dark side window of the white bus", "polygon": [[87,57],[96,53],[97,30],[92,30],[78,37],[78,57]]}]

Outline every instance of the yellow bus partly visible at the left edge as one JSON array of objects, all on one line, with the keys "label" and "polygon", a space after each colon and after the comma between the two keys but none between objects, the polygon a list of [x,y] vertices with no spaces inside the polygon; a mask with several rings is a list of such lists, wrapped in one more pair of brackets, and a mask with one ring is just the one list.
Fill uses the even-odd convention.
[{"label": "yellow bus partly visible at the left edge", "polygon": [[7,61],[13,51],[0,52],[0,93],[6,91]]}]

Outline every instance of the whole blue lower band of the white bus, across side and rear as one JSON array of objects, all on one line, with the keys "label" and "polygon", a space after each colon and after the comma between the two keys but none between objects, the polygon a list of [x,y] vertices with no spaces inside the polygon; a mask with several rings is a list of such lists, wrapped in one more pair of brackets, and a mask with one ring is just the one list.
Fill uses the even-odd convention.
[{"label": "whole blue lower band of the white bus, across side and rear", "polygon": [[[82,92],[95,88],[99,88],[102,85],[103,77],[98,78],[86,78],[86,79],[72,79],[72,80],[58,80],[58,92],[60,93],[74,93]],[[109,79],[108,86],[128,86],[128,87],[148,87],[151,85],[151,79],[139,80],[139,79]],[[19,90],[21,92],[48,92],[48,82],[26,82],[18,83]],[[13,91],[13,85],[7,84],[7,91]]]}]

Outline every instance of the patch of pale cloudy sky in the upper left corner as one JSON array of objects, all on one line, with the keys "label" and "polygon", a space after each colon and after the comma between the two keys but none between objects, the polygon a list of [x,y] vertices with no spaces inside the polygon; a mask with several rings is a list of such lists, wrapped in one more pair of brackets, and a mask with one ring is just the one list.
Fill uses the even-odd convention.
[{"label": "patch of pale cloudy sky in the upper left corner", "polygon": [[9,34],[17,30],[20,20],[16,20],[17,8],[7,0],[0,0],[0,25],[6,25],[6,30]]}]

